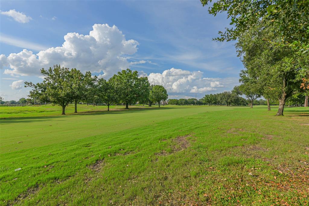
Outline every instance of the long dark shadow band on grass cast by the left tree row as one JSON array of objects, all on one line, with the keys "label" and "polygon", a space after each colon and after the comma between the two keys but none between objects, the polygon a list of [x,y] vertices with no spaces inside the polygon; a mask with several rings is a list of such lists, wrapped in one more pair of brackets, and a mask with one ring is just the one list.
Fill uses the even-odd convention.
[{"label": "long dark shadow band on grass cast by the left tree row", "polygon": [[[1,118],[0,119],[0,125],[4,124],[11,124],[11,123],[29,123],[29,122],[42,122],[42,121],[50,121],[52,119],[59,119],[57,121],[65,121],[64,119],[61,120],[61,118],[70,118],[70,117],[76,117],[81,115],[103,115],[103,114],[128,114],[128,113],[136,113],[136,112],[147,112],[149,110],[165,110],[165,109],[175,109],[171,107],[146,107],[146,108],[130,108],[130,109],[110,109],[110,111],[107,110],[96,110],[96,111],[83,111],[79,113],[73,113],[73,114],[66,114],[66,115],[55,115],[55,116],[38,116],[38,117],[8,117],[8,118]],[[176,109],[187,109],[187,108],[176,108]],[[59,111],[61,113],[61,111]]]}]

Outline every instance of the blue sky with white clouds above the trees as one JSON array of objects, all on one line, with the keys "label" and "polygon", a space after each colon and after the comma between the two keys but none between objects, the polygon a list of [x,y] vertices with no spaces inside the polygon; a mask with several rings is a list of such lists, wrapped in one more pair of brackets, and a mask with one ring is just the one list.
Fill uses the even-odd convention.
[{"label": "blue sky with white clouds above the trees", "polygon": [[129,67],[170,98],[231,90],[243,69],[235,42],[212,41],[229,25],[226,15],[208,14],[199,1],[0,3],[5,100],[26,97],[23,82],[42,81],[40,68],[59,63],[106,79]]}]

